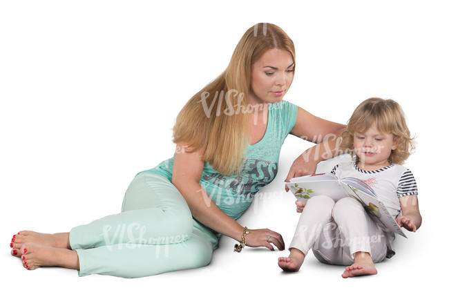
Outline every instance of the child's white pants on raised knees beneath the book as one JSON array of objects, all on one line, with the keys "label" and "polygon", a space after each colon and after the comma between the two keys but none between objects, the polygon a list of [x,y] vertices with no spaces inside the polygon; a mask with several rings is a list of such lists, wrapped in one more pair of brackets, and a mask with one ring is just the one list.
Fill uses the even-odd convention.
[{"label": "child's white pants on raised knees beneath the book", "polygon": [[300,216],[289,246],[303,251],[312,248],[320,262],[350,265],[354,253],[370,253],[373,262],[387,254],[387,235],[370,218],[363,206],[352,197],[335,202],[331,197],[310,198]]}]

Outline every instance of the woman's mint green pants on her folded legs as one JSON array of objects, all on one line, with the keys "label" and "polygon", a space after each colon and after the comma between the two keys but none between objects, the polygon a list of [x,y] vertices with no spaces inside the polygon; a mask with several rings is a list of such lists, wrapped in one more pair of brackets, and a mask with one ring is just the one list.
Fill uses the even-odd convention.
[{"label": "woman's mint green pants on her folded legs", "polygon": [[187,202],[162,175],[140,173],[124,195],[122,213],[70,230],[78,276],[124,278],[192,269],[211,262],[218,236],[192,218]]}]

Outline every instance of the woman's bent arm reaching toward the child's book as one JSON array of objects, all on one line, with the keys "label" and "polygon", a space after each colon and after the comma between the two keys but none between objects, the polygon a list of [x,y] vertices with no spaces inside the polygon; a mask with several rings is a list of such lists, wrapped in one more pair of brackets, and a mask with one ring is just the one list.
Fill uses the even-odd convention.
[{"label": "woman's bent arm reaching toward the child's book", "polygon": [[[309,142],[314,142],[316,145],[307,149],[307,151],[296,158],[285,182],[289,182],[292,177],[311,175],[315,173],[318,162],[341,154],[338,151],[338,137],[341,137],[341,133],[345,129],[346,126],[344,124],[329,122],[298,107],[296,123],[290,134]],[[285,186],[285,191],[288,191],[287,186]]]}]

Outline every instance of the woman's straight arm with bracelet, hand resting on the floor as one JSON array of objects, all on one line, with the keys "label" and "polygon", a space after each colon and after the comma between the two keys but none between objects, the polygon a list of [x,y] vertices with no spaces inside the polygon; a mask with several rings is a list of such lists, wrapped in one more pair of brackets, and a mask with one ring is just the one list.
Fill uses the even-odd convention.
[{"label": "woman's straight arm with bracelet, hand resting on the floor", "polygon": [[[183,147],[184,146],[184,147]],[[177,148],[185,148],[187,144],[178,144]],[[224,213],[211,200],[206,191],[199,184],[202,175],[204,161],[198,151],[187,153],[185,151],[177,151],[173,161],[173,177],[172,183],[180,191],[193,215],[193,217],[209,228],[227,235],[234,240],[240,242],[243,233],[243,226],[236,220]],[[274,248],[267,242],[267,235],[270,235],[270,241],[283,250],[285,244],[279,233],[270,231],[269,229],[249,230],[246,235],[247,245],[249,247],[264,246],[271,250]]]}]

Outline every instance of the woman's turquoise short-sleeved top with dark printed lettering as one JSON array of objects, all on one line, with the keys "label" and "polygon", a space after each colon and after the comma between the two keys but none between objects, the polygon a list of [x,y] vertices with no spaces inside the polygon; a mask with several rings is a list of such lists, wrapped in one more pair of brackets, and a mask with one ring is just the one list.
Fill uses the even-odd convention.
[{"label": "woman's turquoise short-sleeved top with dark printed lettering", "polygon": [[[265,135],[256,144],[249,144],[242,174],[225,176],[218,173],[209,162],[204,162],[199,184],[211,200],[234,220],[248,209],[257,191],[276,177],[280,147],[292,131],[297,113],[298,106],[285,100],[269,104]],[[156,173],[171,182],[173,158],[174,155],[137,175]]]}]

